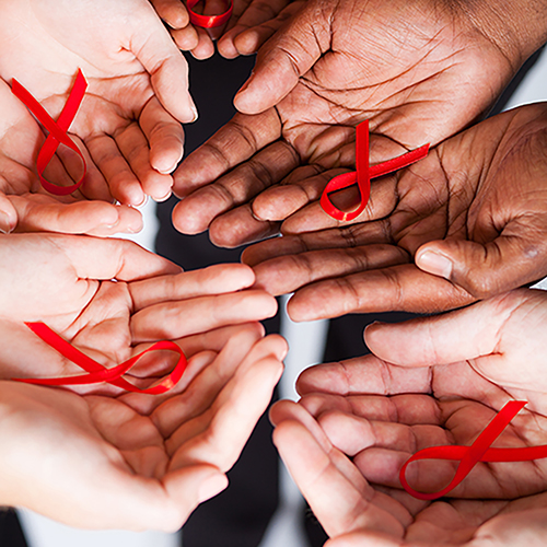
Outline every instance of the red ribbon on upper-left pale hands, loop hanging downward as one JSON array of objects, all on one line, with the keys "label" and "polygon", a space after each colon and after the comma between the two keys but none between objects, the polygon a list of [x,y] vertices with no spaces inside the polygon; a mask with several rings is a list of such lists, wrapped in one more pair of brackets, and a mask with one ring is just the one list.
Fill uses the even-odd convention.
[{"label": "red ribbon on upper-left pale hands, loop hanging downward", "polygon": [[[24,105],[36,116],[38,121],[49,131],[46,142],[38,153],[36,167],[38,170],[39,181],[44,189],[50,194],[55,194],[56,196],[68,196],[69,194],[72,194],[80,188],[85,177],[85,159],[83,158],[82,152],[80,152],[80,149],[75,146],[74,141],[67,135],[67,131],[70,124],[72,124],[72,120],[74,119],[78,108],[80,107],[86,88],[88,82],[85,81],[82,71],[79,70],[67,104],[62,108],[59,119],[55,121],[45,108],[31,95],[31,93],[23,88],[23,85],[21,85],[15,79],[13,79],[12,82],[12,93],[24,103]],[[61,143],[70,148],[70,150],[73,150],[83,162],[82,177],[78,183],[71,186],[58,186],[56,184],[51,184],[43,176],[47,164],[51,161],[51,158]]]}]

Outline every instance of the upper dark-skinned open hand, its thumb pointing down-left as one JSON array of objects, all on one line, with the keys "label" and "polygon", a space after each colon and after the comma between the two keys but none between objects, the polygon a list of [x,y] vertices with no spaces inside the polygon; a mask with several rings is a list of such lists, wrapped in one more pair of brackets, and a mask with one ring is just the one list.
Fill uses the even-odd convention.
[{"label": "upper dark-skinned open hand, its thumb pointing down-left", "polygon": [[277,233],[287,214],[318,199],[326,170],[352,165],[364,119],[372,163],[462,130],[545,42],[547,14],[532,4],[305,2],[260,49],[235,97],[245,114],[175,172],[185,198],[175,226],[209,229],[228,247]]}]

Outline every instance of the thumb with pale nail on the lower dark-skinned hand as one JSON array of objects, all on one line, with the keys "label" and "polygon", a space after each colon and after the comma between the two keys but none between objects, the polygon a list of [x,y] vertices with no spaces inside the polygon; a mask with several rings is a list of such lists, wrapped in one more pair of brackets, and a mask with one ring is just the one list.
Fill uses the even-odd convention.
[{"label": "thumb with pale nail on the lower dark-skinned hand", "polygon": [[547,249],[540,237],[501,235],[480,244],[465,240],[429,242],[417,252],[418,268],[443,277],[476,299],[486,299],[545,276]]}]

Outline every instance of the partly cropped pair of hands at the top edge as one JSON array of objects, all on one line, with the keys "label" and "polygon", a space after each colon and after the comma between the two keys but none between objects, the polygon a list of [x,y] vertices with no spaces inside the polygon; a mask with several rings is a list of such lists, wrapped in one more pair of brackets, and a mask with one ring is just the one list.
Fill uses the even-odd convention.
[{"label": "partly cropped pair of hands at the top edge", "polygon": [[[208,59],[214,54],[218,40],[220,55],[233,59],[257,51],[289,16],[303,3],[302,0],[234,0],[232,16],[224,27],[199,28],[190,24],[186,5],[181,0],[150,0],[158,15],[168,25],[176,45],[191,51],[196,59]],[[206,0],[205,15],[218,15],[226,10],[229,0]]]}]

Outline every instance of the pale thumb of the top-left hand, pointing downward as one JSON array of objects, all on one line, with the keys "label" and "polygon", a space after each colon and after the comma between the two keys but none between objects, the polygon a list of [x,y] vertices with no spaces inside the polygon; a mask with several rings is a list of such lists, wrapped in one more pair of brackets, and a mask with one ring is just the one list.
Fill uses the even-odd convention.
[{"label": "pale thumb of the top-left hand, pointing downward", "polygon": [[132,33],[131,50],[150,74],[165,109],[178,121],[194,121],[197,109],[188,91],[188,65],[152,7],[147,13],[142,9],[142,16],[135,18],[138,26]]}]

